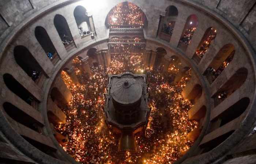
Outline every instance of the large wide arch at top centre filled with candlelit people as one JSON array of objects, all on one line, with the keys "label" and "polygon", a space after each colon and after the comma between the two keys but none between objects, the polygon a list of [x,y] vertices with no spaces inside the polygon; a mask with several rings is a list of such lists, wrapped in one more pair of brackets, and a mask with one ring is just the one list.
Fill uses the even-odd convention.
[{"label": "large wide arch at top centre filled with candlelit people", "polygon": [[106,18],[106,26],[109,28],[143,28],[146,22],[144,12],[130,2],[119,3]]}]

